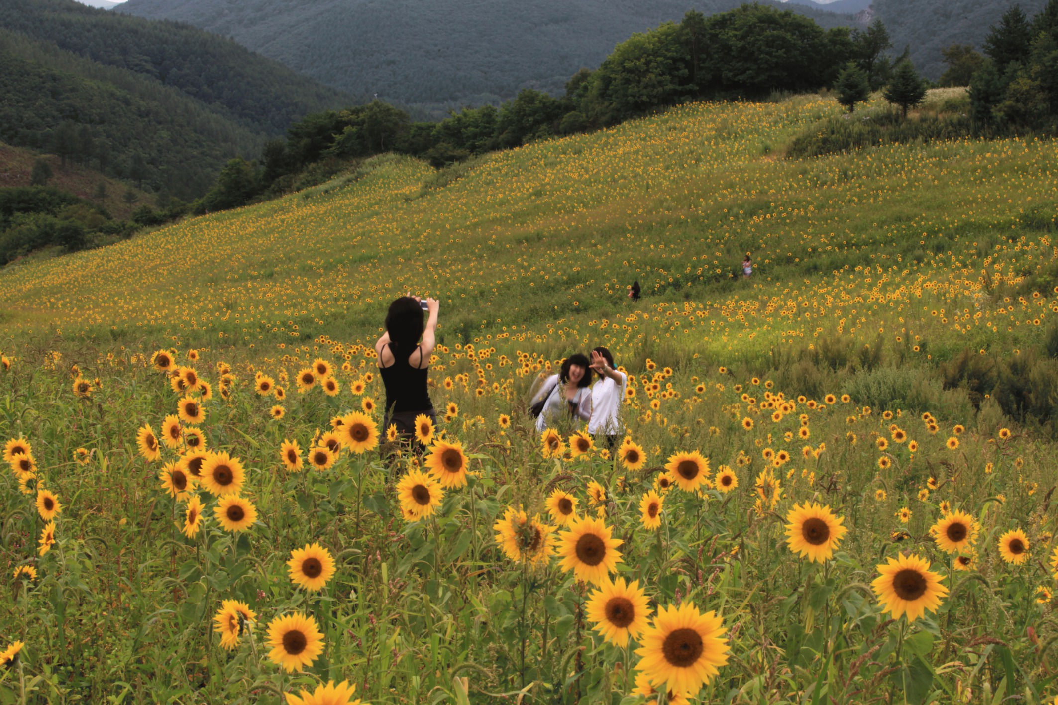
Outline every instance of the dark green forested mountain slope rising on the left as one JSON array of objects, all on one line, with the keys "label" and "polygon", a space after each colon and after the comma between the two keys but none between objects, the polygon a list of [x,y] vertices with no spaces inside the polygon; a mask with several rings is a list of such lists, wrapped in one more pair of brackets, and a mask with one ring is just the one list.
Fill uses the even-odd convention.
[{"label": "dark green forested mountain slope rising on the left", "polygon": [[353,96],[234,41],[72,0],[0,0],[0,141],[181,199]]}]

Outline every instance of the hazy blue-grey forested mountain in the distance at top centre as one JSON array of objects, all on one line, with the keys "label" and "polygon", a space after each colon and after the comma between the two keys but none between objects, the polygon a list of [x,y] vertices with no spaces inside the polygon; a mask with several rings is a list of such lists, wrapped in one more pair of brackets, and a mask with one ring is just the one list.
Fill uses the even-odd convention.
[{"label": "hazy blue-grey forested mountain in the distance at top centre", "polygon": [[[742,0],[130,0],[114,12],[234,37],[326,84],[406,104],[497,101],[519,88],[563,92],[636,32]],[[824,27],[852,16],[765,4]]]}]

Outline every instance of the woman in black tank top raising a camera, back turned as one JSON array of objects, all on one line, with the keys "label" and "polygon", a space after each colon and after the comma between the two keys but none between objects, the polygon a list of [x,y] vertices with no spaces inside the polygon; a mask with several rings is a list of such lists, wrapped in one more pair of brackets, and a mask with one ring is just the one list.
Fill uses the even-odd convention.
[{"label": "woman in black tank top raising a camera, back turned", "polygon": [[382,427],[393,424],[403,441],[415,440],[415,418],[425,414],[437,423],[434,404],[430,401],[426,379],[430,356],[437,344],[437,299],[427,298],[423,313],[422,299],[402,296],[389,304],[386,332],[375,344],[379,354],[379,373],[386,388],[386,411]]}]

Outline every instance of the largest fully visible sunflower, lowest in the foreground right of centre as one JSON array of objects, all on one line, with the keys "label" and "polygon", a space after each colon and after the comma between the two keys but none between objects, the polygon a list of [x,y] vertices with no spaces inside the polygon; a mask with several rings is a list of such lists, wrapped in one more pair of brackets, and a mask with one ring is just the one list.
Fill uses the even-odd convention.
[{"label": "largest fully visible sunflower, lowest in the foreground right of centre", "polygon": [[724,620],[690,601],[660,608],[640,643],[638,667],[652,685],[673,692],[697,692],[728,660]]}]

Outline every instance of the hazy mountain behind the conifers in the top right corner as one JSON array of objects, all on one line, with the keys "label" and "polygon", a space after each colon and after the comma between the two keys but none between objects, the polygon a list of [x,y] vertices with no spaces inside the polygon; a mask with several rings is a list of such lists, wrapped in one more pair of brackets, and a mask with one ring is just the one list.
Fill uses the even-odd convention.
[{"label": "hazy mountain behind the conifers in the top right corner", "polygon": [[894,50],[909,47],[915,67],[935,80],[945,69],[942,49],[959,43],[980,50],[991,25],[1013,4],[1035,15],[1046,0],[874,0],[871,10],[886,23]]}]

